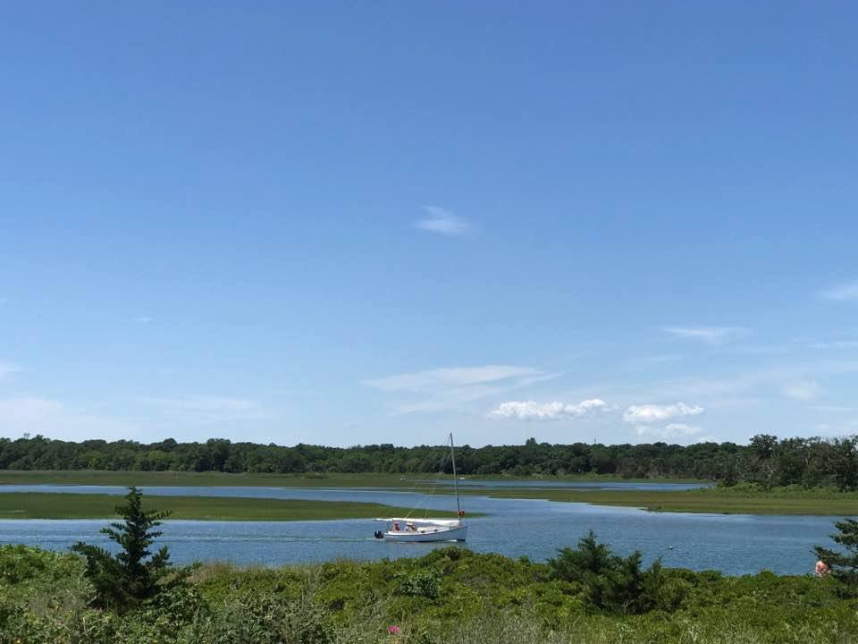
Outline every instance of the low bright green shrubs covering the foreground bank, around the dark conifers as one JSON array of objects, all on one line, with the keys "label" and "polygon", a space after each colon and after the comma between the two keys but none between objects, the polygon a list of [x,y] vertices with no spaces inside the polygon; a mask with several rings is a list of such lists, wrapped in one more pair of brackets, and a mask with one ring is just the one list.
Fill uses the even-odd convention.
[{"label": "low bright green shrubs covering the foreground bank, around the dark conifers", "polygon": [[[817,644],[858,640],[832,578],[665,569],[674,602],[587,606],[579,581],[526,559],[446,547],[419,559],[278,569],[223,564],[123,614],[91,607],[75,555],[0,547],[0,644]],[[436,580],[429,581],[426,580]],[[432,590],[434,584],[437,589]],[[426,592],[429,590],[429,592]],[[390,633],[391,626],[399,632]]]}]

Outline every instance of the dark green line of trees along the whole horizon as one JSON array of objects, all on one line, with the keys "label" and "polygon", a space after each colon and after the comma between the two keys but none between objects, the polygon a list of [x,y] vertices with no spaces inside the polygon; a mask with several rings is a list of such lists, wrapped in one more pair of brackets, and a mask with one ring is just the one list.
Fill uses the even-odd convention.
[{"label": "dark green line of trees along the whole horizon", "polygon": [[[211,439],[143,445],[131,441],[82,443],[42,436],[0,438],[0,470],[184,470],[222,472],[434,472],[450,471],[446,446],[256,445]],[[611,474],[629,478],[711,479],[765,488],[787,485],[858,488],[858,437],[823,440],[754,436],[749,445],[525,445],[457,450],[466,475],[565,476]]]}]

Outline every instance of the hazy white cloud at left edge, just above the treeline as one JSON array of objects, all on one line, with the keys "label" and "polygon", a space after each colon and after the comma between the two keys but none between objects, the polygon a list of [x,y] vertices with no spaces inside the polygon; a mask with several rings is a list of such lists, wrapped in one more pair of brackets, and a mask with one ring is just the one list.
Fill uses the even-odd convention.
[{"label": "hazy white cloud at left edge, just above the treeline", "polygon": [[0,427],[4,436],[41,434],[49,438],[86,440],[88,438],[131,438],[136,428],[121,419],[94,416],[54,400],[10,398],[0,400]]}]

